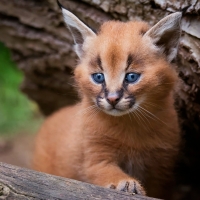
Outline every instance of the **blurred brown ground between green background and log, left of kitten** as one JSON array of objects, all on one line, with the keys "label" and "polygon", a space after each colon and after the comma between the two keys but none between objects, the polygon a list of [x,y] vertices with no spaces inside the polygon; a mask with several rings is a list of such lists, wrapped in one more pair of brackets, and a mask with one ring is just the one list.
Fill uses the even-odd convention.
[{"label": "blurred brown ground between green background and log, left of kitten", "polygon": [[31,168],[34,134],[19,134],[11,139],[0,138],[0,162]]}]

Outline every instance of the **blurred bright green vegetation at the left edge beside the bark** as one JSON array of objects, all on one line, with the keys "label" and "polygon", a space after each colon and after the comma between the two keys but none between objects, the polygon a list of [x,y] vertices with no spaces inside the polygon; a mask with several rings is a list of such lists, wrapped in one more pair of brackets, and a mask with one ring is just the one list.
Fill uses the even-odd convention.
[{"label": "blurred bright green vegetation at the left edge beside the bark", "polygon": [[0,43],[0,135],[29,129],[35,123],[37,108],[20,92],[22,79],[9,49]]}]

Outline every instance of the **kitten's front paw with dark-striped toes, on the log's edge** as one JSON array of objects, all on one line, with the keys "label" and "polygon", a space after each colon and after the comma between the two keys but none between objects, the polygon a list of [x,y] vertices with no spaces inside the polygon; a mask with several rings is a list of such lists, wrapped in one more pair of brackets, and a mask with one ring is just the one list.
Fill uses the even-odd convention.
[{"label": "kitten's front paw with dark-striped toes, on the log's edge", "polygon": [[136,180],[121,180],[118,182],[118,184],[109,184],[108,188],[140,195],[146,195],[144,188]]}]

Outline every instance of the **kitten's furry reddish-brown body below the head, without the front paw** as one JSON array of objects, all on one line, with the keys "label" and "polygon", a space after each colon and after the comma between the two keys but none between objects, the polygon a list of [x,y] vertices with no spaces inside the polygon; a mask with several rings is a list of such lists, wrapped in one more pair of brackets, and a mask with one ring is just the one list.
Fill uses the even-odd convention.
[{"label": "kitten's furry reddish-brown body below the head, without the front paw", "polygon": [[[147,131],[151,129],[147,122],[135,127],[133,118],[83,114],[80,111],[88,107],[84,104],[64,108],[46,120],[37,140],[35,169],[101,186],[127,179],[129,174],[143,183],[149,196],[159,197],[161,188],[169,193],[172,182],[165,184],[172,181],[180,140],[174,111],[160,113],[161,120],[172,120],[169,128],[149,121],[156,130],[152,134]],[[114,175],[114,169],[106,167],[110,162],[127,175]],[[101,166],[95,166],[97,163]],[[104,165],[105,172],[101,173]]]}]

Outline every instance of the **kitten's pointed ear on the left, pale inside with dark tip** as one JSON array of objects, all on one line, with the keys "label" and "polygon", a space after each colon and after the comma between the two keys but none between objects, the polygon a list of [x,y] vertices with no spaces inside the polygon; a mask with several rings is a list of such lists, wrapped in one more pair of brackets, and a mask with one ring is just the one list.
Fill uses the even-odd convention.
[{"label": "kitten's pointed ear on the left, pale inside with dark tip", "polygon": [[59,1],[57,1],[57,3],[62,10],[64,21],[73,36],[75,52],[78,57],[81,58],[83,54],[83,43],[86,38],[94,37],[96,34],[74,14],[66,10]]}]

